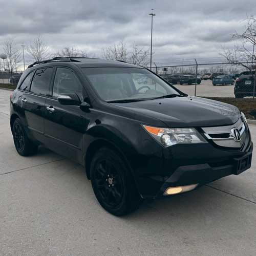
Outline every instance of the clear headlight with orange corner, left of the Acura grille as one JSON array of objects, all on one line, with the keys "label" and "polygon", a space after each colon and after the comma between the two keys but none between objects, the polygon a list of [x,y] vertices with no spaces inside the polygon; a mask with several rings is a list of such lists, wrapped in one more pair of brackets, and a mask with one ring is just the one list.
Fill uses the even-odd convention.
[{"label": "clear headlight with orange corner, left of the Acura grille", "polygon": [[147,125],[143,127],[164,147],[176,144],[207,143],[194,128],[159,128]]}]

